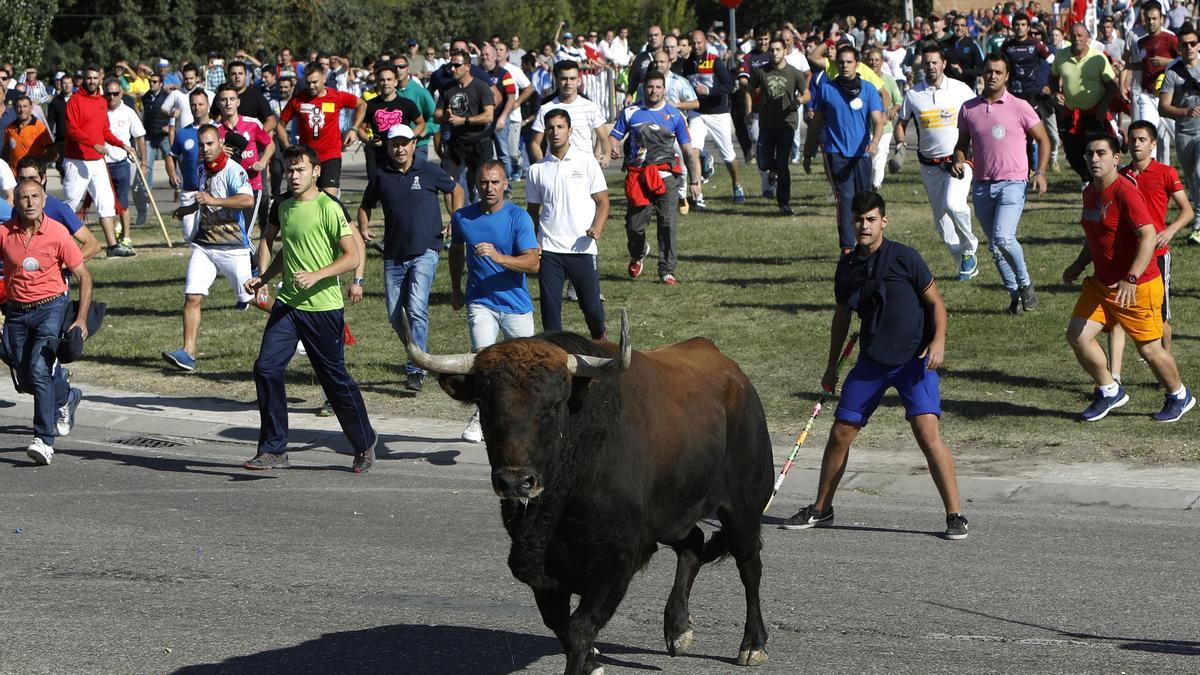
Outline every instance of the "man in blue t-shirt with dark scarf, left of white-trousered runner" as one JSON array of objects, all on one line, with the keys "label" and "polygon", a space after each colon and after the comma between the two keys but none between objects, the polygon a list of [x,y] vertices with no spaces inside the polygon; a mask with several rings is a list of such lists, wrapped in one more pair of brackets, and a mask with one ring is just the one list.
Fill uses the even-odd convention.
[{"label": "man in blue t-shirt with dark scarf, left of white-trousered runner", "polygon": [[870,190],[871,156],[883,138],[883,100],[858,74],[858,50],[838,48],[838,77],[826,77],[812,92],[812,119],[804,139],[804,173],[812,173],[812,157],[822,139],[826,174],[838,201],[838,245],[842,255],[854,247],[850,202]]}]

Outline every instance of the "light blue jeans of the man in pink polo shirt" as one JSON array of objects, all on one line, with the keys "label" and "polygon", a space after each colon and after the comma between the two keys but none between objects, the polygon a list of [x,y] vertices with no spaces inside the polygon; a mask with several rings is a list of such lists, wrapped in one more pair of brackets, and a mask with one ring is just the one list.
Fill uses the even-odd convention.
[{"label": "light blue jeans of the man in pink polo shirt", "polygon": [[996,270],[1009,293],[1030,285],[1025,267],[1025,251],[1016,240],[1016,226],[1025,210],[1024,180],[977,180],[971,184],[976,217],[988,237],[988,250],[996,261]]}]

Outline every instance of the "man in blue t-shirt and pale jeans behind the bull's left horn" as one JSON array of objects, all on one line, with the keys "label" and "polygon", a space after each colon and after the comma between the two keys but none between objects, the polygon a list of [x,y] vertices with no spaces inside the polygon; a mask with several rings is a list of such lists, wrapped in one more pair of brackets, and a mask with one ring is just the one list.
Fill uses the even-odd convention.
[{"label": "man in blue t-shirt and pale jeans behind the bull's left horn", "polygon": [[[540,265],[538,235],[524,209],[504,201],[509,189],[504,163],[487,160],[479,166],[479,203],[458,209],[450,219],[450,306],[467,305],[470,351],[478,352],[505,340],[534,333],[533,299],[526,274]],[[467,265],[467,294],[462,292],[462,268]],[[463,441],[484,440],[479,408],[462,432]]]}]

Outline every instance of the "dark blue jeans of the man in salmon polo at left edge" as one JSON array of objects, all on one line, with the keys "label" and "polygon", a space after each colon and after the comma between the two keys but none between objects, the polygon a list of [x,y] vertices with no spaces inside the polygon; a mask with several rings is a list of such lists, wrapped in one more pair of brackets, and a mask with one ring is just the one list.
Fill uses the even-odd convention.
[{"label": "dark blue jeans of the man in salmon polo at left edge", "polygon": [[17,375],[17,390],[34,395],[34,435],[47,446],[58,436],[58,411],[71,389],[54,356],[68,304],[66,295],[24,311],[10,304],[0,346]]}]

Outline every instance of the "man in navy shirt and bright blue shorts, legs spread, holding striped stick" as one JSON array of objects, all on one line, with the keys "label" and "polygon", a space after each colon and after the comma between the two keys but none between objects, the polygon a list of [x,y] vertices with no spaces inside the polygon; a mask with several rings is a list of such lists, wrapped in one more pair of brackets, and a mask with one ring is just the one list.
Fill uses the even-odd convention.
[{"label": "man in navy shirt and bright blue shorts, legs spread, holding striped stick", "polygon": [[862,319],[862,351],[846,376],[833,429],[821,459],[816,501],[784,521],[785,530],[833,524],[833,496],[846,472],[850,444],[895,388],[912,434],[925,453],[929,472],[946,506],[946,538],[965,539],[967,519],[959,512],[954,458],[942,441],[942,398],[937,369],[946,354],[946,304],[929,265],[914,249],[884,239],[887,207],[877,192],[859,192],[851,202],[856,246],[842,256],[834,275],[834,312],[829,365],[821,386],[838,384],[838,358],[850,333],[851,312]]}]

